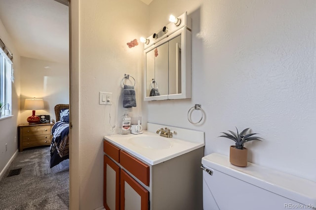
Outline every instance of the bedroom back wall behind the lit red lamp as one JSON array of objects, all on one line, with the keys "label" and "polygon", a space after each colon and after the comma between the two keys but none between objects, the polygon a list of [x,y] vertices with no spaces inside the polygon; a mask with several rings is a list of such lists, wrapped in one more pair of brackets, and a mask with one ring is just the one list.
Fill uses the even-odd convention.
[{"label": "bedroom back wall behind the lit red lamp", "polygon": [[26,98],[44,100],[44,109],[36,115],[50,115],[56,120],[54,107],[69,104],[69,64],[21,57],[21,122],[28,123],[32,110],[24,110]]}]

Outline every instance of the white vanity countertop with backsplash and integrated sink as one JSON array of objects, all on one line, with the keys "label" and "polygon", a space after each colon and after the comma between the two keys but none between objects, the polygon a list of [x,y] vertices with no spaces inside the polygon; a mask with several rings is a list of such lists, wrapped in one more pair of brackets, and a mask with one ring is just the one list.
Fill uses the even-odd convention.
[{"label": "white vanity countertop with backsplash and integrated sink", "polygon": [[[151,124],[148,123],[148,130],[151,128],[159,129],[168,127],[172,130],[174,130],[176,133],[174,134],[173,138],[166,138],[166,137],[160,137],[158,134],[149,131],[144,131],[143,134],[128,134],[128,135],[111,135],[111,136],[105,136],[104,139],[108,140],[109,142],[113,143],[114,145],[117,145],[121,149],[131,153],[132,155],[138,157],[139,159],[145,161],[146,163],[150,165],[156,165],[158,163],[161,163],[163,161],[167,161],[171,158],[180,156],[182,154],[185,154],[187,152],[193,151],[197,148],[203,147],[205,145],[204,143],[204,132],[201,131],[194,131],[194,130],[188,130],[188,129],[181,129],[171,126],[163,126],[163,125],[157,125],[157,124]],[[156,128],[157,127],[157,128]],[[179,135],[181,139],[177,139],[177,134],[180,132],[186,135],[183,135],[185,137],[182,137]],[[149,140],[155,139],[157,141],[162,140],[163,143],[170,144],[170,147],[168,148],[150,148],[146,146],[139,146],[134,143],[134,141],[131,138],[139,138],[142,140],[146,140],[148,137]],[[187,140],[186,140],[187,139]]]}]

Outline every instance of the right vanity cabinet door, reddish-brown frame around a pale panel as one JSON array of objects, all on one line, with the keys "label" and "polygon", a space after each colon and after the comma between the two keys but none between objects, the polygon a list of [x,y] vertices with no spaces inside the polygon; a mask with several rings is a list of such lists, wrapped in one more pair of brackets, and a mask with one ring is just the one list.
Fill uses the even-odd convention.
[{"label": "right vanity cabinet door, reddish-brown frame around a pale panel", "polygon": [[120,169],[120,210],[148,210],[149,192]]}]

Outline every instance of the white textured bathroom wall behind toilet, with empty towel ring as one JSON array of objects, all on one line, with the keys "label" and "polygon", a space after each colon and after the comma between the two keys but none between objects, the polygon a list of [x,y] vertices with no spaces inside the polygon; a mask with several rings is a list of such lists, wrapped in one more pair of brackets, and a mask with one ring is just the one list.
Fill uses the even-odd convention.
[{"label": "white textured bathroom wall behind toilet, with empty towel ring", "polygon": [[[205,132],[205,155],[229,155],[220,132],[250,127],[249,161],[316,181],[316,1],[154,0],[150,33],[192,15],[192,99],[149,102],[148,121]],[[149,35],[149,34],[148,34]],[[188,110],[201,104],[205,120]],[[199,117],[199,112],[194,114]]]}]

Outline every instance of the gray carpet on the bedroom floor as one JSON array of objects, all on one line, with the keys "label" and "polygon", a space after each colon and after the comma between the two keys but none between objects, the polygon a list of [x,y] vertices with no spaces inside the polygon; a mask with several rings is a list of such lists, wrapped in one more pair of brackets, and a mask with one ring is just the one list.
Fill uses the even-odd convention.
[{"label": "gray carpet on the bedroom floor", "polygon": [[[19,152],[0,180],[0,209],[68,210],[69,160],[52,169],[49,162],[49,146]],[[7,177],[19,168],[19,175]]]}]

